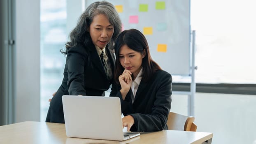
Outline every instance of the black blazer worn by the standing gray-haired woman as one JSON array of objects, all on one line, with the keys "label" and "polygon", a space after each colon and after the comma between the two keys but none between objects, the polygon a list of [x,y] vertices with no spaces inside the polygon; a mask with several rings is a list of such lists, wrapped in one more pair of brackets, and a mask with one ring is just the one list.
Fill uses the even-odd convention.
[{"label": "black blazer worn by the standing gray-haired woman", "polygon": [[[114,73],[114,53],[106,46],[106,54]],[[104,96],[113,79],[108,80],[100,57],[93,44],[88,48],[77,45],[67,51],[64,78],[58,91],[51,99],[46,122],[64,123],[63,95]]]}]

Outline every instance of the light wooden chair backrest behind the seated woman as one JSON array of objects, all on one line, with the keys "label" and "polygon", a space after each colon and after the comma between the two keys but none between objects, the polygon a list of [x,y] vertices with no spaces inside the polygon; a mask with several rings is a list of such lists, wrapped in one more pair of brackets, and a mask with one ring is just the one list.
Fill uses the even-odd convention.
[{"label": "light wooden chair backrest behind the seated woman", "polygon": [[177,114],[170,112],[168,116],[168,130],[184,130],[184,131],[193,131],[195,132],[197,126],[193,123],[195,117],[193,116],[184,116],[182,114]]}]

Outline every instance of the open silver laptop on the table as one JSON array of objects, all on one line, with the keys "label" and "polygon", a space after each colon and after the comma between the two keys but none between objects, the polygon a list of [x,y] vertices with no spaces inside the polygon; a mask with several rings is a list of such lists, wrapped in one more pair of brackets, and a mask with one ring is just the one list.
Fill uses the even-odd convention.
[{"label": "open silver laptop on the table", "polygon": [[62,96],[67,137],[123,141],[140,133],[123,132],[118,97]]}]

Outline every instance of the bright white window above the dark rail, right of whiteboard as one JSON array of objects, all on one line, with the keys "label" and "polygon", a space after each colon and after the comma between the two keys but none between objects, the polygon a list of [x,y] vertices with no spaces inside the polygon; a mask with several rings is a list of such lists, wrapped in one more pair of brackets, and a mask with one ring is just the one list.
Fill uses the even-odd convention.
[{"label": "bright white window above the dark rail, right of whiteboard", "polygon": [[256,84],[254,0],[191,0],[197,83]]}]

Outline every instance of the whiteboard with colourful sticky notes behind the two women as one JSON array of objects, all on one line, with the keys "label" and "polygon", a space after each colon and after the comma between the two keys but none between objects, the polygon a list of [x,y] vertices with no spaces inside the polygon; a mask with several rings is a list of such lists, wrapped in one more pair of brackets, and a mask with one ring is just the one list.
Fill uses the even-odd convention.
[{"label": "whiteboard with colourful sticky notes behind the two women", "polygon": [[[97,0],[86,0],[86,7]],[[140,30],[153,60],[172,75],[190,75],[190,0],[107,0],[123,30]]]}]

